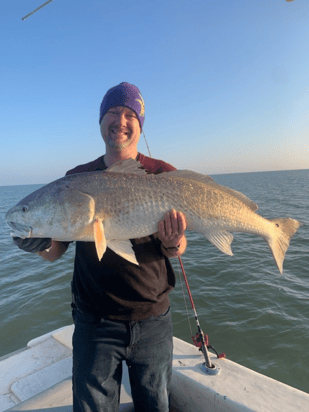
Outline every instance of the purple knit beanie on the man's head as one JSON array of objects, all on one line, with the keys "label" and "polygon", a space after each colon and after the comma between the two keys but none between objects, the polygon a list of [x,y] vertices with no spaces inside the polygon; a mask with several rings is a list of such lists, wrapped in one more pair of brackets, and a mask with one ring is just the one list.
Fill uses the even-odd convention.
[{"label": "purple knit beanie on the man's head", "polygon": [[107,113],[111,107],[115,106],[126,106],[129,109],[134,110],[138,117],[141,130],[143,129],[143,123],[145,120],[145,103],[136,86],[123,82],[118,86],[109,89],[101,103],[99,123],[101,123],[105,113]]}]

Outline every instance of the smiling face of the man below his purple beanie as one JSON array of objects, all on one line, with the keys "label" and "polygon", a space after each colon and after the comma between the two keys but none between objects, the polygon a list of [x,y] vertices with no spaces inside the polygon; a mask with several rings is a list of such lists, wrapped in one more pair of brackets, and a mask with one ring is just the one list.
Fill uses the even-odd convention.
[{"label": "smiling face of the man below his purple beanie", "polygon": [[101,135],[105,144],[118,151],[131,145],[137,147],[140,134],[137,115],[128,107],[111,107],[101,120]]}]

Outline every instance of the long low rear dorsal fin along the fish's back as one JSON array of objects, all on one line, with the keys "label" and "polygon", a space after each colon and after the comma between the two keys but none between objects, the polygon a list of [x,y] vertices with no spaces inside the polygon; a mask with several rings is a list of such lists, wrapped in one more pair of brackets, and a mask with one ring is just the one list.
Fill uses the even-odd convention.
[{"label": "long low rear dorsal fin along the fish's back", "polygon": [[159,175],[156,175],[156,176],[159,178],[160,177],[165,177],[165,178],[178,177],[182,179],[190,179],[190,180],[195,180],[196,182],[206,183],[207,185],[212,185],[214,188],[222,190],[223,192],[228,193],[229,195],[237,198],[238,200],[243,202],[245,205],[247,205],[252,211],[255,211],[258,209],[258,205],[252,202],[252,200],[250,200],[243,193],[238,192],[237,190],[234,190],[234,189],[230,189],[229,187],[226,187],[226,186],[221,186],[218,183],[216,183],[212,177],[208,175],[203,175],[202,173],[192,172],[191,170],[173,170],[171,172],[160,173]]}]

